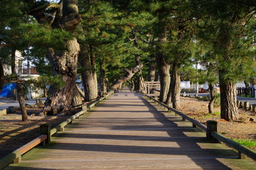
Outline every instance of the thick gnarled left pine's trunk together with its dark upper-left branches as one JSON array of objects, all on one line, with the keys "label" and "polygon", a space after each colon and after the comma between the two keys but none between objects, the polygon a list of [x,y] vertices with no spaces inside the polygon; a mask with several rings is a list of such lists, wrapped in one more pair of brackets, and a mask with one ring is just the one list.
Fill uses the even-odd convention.
[{"label": "thick gnarled left pine's trunk together with its dark upper-left branches", "polygon": [[[51,96],[48,97],[43,108],[44,113],[66,113],[70,110],[75,94],[75,79],[77,76],[77,61],[80,45],[73,35],[76,26],[80,23],[78,15],[78,1],[65,0],[50,4],[48,1],[26,1],[27,13],[31,14],[38,23],[48,26],[53,32],[59,30],[70,34],[70,39],[61,45],[64,49],[55,46],[48,48],[48,59],[53,64],[53,74],[60,74],[65,86],[59,89],[50,87]],[[78,101],[81,103],[82,101]]]}]

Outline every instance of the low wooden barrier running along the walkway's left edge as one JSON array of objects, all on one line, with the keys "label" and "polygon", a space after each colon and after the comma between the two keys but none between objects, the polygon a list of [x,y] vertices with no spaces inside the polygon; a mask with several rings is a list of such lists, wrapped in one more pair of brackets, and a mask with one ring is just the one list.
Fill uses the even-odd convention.
[{"label": "low wooden barrier running along the walkway's left edge", "polygon": [[113,93],[114,93],[113,91],[110,91],[110,93],[108,93],[106,96],[91,103],[89,106],[86,106],[86,105],[85,107],[82,106],[82,111],[75,113],[75,115],[72,115],[63,123],[60,123],[59,125],[55,126],[55,128],[50,129],[50,124],[48,123],[41,125],[40,126],[41,135],[39,137],[36,137],[36,139],[32,140],[31,142],[28,142],[28,144],[23,145],[23,147],[16,149],[14,152],[7,154],[5,157],[0,159],[0,169],[4,169],[6,166],[8,166],[11,163],[14,163],[14,164],[21,163],[21,156],[23,154],[25,154],[29,150],[33,149],[33,147],[36,147],[39,144],[45,145],[45,143],[50,143],[52,135],[54,135],[58,131],[64,131],[64,128],[66,125],[72,123],[72,121],[75,120],[76,118],[79,118],[80,115],[87,113],[88,110],[90,111],[94,106],[97,105],[97,103],[100,103],[100,101],[105,100],[108,96],[112,95]]}]

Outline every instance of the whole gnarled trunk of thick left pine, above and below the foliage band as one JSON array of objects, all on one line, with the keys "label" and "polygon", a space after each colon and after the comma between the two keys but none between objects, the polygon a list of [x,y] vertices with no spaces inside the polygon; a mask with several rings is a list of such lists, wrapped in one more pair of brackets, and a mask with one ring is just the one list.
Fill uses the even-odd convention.
[{"label": "whole gnarled trunk of thick left pine, above and below the foliage band", "polygon": [[[63,8],[60,9],[62,10],[55,17],[53,28],[63,28],[70,33],[75,32],[76,26],[80,23],[78,0],[63,0]],[[71,108],[74,89],[76,88],[75,79],[80,45],[77,39],[73,38],[67,40],[64,46],[65,50],[55,52],[52,62],[55,74],[60,74],[65,85],[52,91],[51,96],[46,100],[43,113],[67,113]]]}]

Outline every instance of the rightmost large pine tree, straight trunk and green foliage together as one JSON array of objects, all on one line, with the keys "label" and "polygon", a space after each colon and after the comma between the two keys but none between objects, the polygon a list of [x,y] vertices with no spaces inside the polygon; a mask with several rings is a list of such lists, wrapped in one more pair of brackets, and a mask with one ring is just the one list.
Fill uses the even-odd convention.
[{"label": "rightmost large pine tree, straight trunk and green foliage together", "polygon": [[[202,8],[203,7],[203,8]],[[221,118],[238,120],[236,81],[253,70],[254,1],[200,1],[199,36],[212,45],[219,73]]]}]

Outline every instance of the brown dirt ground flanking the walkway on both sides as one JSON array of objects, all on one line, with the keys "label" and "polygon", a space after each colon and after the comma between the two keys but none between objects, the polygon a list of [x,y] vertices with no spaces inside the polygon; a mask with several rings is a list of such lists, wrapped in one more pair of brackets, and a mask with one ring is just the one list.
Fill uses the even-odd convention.
[{"label": "brown dirt ground flanking the walkway on both sides", "polygon": [[[0,159],[14,149],[25,145],[40,135],[40,125],[50,123],[55,127],[62,123],[69,116],[46,116],[41,117],[41,108],[28,109],[28,123],[21,121],[21,113],[9,113],[0,117]],[[220,108],[215,108],[220,111]],[[77,111],[78,112],[78,111]],[[218,132],[231,139],[256,140],[256,113],[240,110],[240,120],[227,122],[220,119],[220,115],[208,114],[208,102],[198,101],[196,98],[181,97],[181,112],[186,113],[191,118],[206,123],[207,120],[218,121]],[[252,148],[255,149],[256,148]]]}]

